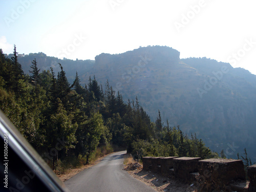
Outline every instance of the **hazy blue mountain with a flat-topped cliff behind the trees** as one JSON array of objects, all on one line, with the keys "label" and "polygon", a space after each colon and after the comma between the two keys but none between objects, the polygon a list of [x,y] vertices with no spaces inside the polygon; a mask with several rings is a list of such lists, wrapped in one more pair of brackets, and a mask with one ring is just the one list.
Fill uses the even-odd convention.
[{"label": "hazy blue mountain with a flat-topped cliff behind the trees", "polygon": [[[19,59],[24,69],[33,57],[26,59]],[[103,86],[108,79],[124,100],[137,96],[152,120],[160,110],[162,120],[196,133],[211,150],[236,158],[246,147],[256,161],[256,76],[245,69],[205,57],[180,59],[177,50],[161,46],[102,53],[95,61],[43,55],[37,62],[41,69],[60,62],[69,80],[78,71],[82,84],[93,75]]]}]

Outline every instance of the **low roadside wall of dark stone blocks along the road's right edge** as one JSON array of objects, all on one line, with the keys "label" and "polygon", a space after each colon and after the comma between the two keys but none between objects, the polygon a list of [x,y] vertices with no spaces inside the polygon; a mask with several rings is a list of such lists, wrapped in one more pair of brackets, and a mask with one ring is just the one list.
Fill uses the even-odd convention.
[{"label": "low roadside wall of dark stone blocks along the road's right edge", "polygon": [[[246,183],[242,160],[204,159],[198,157],[143,157],[143,169],[174,176],[186,182],[201,185],[228,186],[230,183]],[[256,191],[256,165],[248,167],[247,186],[237,191]],[[249,183],[249,187],[248,187]]]}]

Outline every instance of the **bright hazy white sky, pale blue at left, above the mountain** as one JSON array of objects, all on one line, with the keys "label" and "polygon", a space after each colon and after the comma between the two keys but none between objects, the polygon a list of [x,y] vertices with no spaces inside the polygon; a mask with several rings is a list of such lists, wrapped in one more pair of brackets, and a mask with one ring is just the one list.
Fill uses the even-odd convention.
[{"label": "bright hazy white sky, pale blue at left, above the mountain", "polygon": [[94,59],[148,45],[256,74],[255,0],[1,0],[0,48]]}]

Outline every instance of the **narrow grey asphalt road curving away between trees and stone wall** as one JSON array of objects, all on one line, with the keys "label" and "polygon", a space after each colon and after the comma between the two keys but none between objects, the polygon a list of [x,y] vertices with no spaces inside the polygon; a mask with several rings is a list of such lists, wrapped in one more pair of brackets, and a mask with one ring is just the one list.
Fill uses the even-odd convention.
[{"label": "narrow grey asphalt road curving away between trees and stone wall", "polygon": [[82,170],[65,182],[71,192],[76,191],[154,191],[151,187],[133,178],[123,168],[123,157],[126,151],[106,156],[97,165]]}]

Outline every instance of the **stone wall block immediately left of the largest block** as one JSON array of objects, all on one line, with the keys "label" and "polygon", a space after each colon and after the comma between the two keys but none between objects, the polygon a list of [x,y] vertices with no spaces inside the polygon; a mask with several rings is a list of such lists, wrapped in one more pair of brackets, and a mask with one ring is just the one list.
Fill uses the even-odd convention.
[{"label": "stone wall block immediately left of the largest block", "polygon": [[200,157],[179,157],[173,159],[174,175],[184,181],[190,180],[190,173],[198,172]]}]

